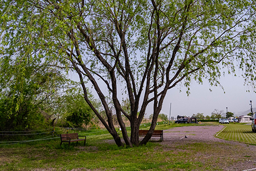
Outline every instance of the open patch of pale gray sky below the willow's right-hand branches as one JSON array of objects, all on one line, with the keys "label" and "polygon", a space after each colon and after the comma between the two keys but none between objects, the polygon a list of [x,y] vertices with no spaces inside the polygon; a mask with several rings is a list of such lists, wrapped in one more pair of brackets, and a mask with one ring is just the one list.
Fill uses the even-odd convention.
[{"label": "open patch of pale gray sky below the willow's right-hand branches", "polygon": [[[256,107],[256,94],[253,93],[252,87],[244,86],[242,77],[226,75],[220,79],[220,83],[224,87],[225,93],[220,87],[210,87],[207,81],[203,82],[202,85],[193,83],[190,87],[189,96],[187,96],[184,87],[181,88],[181,93],[179,93],[178,88],[171,89],[166,96],[162,113],[169,117],[170,103],[172,103],[172,117],[177,115],[191,116],[196,113],[211,116],[214,109],[226,112],[226,107],[228,107],[229,112],[236,115],[238,112],[244,112],[251,108],[250,100],[252,100],[252,106]],[[210,88],[212,91],[209,90]],[[246,90],[251,91],[246,92]],[[147,112],[149,114],[150,109]]]}]

